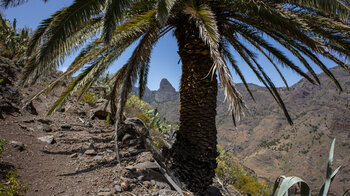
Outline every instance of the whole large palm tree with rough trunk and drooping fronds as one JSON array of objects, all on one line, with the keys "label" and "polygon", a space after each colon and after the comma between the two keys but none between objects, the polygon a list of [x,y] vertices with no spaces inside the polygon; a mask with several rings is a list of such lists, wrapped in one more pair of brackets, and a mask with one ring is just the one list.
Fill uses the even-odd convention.
[{"label": "whole large palm tree with rough trunk and drooping fronds", "polygon": [[[51,114],[69,95],[78,90],[80,96],[84,94],[127,47],[137,42],[128,62],[111,78],[111,109],[118,130],[127,95],[137,81],[139,95],[143,95],[153,46],[173,31],[182,77],[180,130],[169,162],[184,185],[201,195],[212,183],[216,168],[217,78],[225,89],[234,123],[246,106],[232,81],[229,65],[253,97],[230,48],[266,86],[292,123],[256,54],[265,56],[279,73],[281,65],[320,84],[310,65],[314,63],[341,90],[318,55],[350,71],[349,13],[349,2],[345,0],[75,0],[44,20],[35,31],[23,79],[35,82],[39,76],[55,70],[67,54],[86,45],[67,71],[47,86],[46,89],[52,88],[59,80],[82,70],[50,109]],[[90,41],[100,32],[101,38]],[[290,60],[279,47],[297,57],[301,65]]]}]

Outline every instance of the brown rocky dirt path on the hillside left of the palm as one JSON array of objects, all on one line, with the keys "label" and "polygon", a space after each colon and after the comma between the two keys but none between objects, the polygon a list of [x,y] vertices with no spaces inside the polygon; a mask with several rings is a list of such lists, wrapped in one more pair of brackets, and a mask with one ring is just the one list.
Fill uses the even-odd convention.
[{"label": "brown rocky dirt path on the hillside left of the palm", "polygon": [[90,120],[86,103],[45,117],[54,99],[36,100],[38,115],[21,111],[0,120],[1,139],[8,141],[0,167],[17,169],[27,195],[176,195],[139,138],[124,135],[118,165],[113,126]]}]

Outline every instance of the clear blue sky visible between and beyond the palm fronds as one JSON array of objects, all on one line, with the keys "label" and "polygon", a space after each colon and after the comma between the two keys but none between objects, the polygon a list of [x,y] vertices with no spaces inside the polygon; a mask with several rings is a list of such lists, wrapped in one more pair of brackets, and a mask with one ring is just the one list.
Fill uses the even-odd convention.
[{"label": "clear blue sky visible between and beyond the palm fronds", "polygon": [[[48,3],[43,3],[41,0],[31,0],[21,6],[2,10],[2,13],[4,13],[5,18],[10,19],[11,21],[13,18],[16,18],[18,28],[27,26],[35,30],[43,19],[48,18],[55,11],[59,10],[62,7],[70,5],[72,2],[72,0],[49,0]],[[154,50],[152,51],[151,66],[148,77],[148,87],[151,90],[156,90],[159,88],[159,83],[162,78],[167,78],[177,90],[179,89],[181,63],[178,64],[180,57],[177,54],[177,50],[177,43],[172,32],[161,38],[155,46]],[[128,48],[125,54],[123,54],[108,71],[111,73],[116,72],[128,60],[132,51],[132,47]],[[236,53],[233,54],[236,56],[238,65],[246,76],[247,82],[261,85],[254,74],[243,63],[242,59]],[[291,56],[290,54],[288,55]],[[59,69],[65,70],[73,59],[74,54],[67,57],[66,61],[61,65]],[[296,60],[293,57],[291,57],[291,59],[293,61]],[[270,74],[270,77],[276,86],[284,86],[283,81],[279,78],[277,72],[274,70],[273,66],[267,61],[266,58],[259,56],[259,62],[261,65],[263,65],[264,70]],[[301,66],[299,62],[295,62]],[[331,61],[326,60],[324,62],[328,67],[335,66],[335,63]],[[284,69],[281,66],[280,68],[290,86],[300,80],[301,77],[293,71]],[[315,71],[317,73],[321,72],[319,68],[315,68]],[[232,76],[236,83],[241,82],[241,80],[238,79],[238,76],[234,72],[232,73]]]}]

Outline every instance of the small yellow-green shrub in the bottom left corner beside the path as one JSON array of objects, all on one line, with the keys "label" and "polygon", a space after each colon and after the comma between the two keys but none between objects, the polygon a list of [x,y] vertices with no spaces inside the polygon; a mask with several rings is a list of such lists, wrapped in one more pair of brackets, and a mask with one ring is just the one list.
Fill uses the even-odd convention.
[{"label": "small yellow-green shrub in the bottom left corner beside the path", "polygon": [[1,196],[18,196],[25,194],[29,186],[24,186],[22,181],[18,180],[17,171],[12,171],[7,174],[8,181],[5,184],[0,184]]}]

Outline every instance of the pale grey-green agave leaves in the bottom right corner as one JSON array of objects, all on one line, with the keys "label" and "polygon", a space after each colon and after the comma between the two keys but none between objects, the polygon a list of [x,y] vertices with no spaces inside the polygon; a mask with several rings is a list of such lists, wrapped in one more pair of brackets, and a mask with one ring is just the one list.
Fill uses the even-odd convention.
[{"label": "pale grey-green agave leaves in the bottom right corner", "polygon": [[[341,166],[339,166],[334,171],[332,169],[334,144],[335,144],[335,139],[333,139],[333,142],[331,144],[331,148],[329,150],[326,181],[322,185],[322,187],[318,193],[318,196],[327,196],[328,195],[329,188],[330,188],[335,176],[337,175],[339,169],[341,168]],[[302,180],[301,178],[296,177],[296,176],[286,177],[283,175],[276,179],[271,196],[276,195],[277,189],[278,189],[277,196],[288,196],[288,190],[292,186],[295,186],[295,185],[300,187],[300,194],[302,196],[311,196],[310,187],[304,180]],[[345,194],[346,194],[346,192],[344,193],[344,195]]]}]

